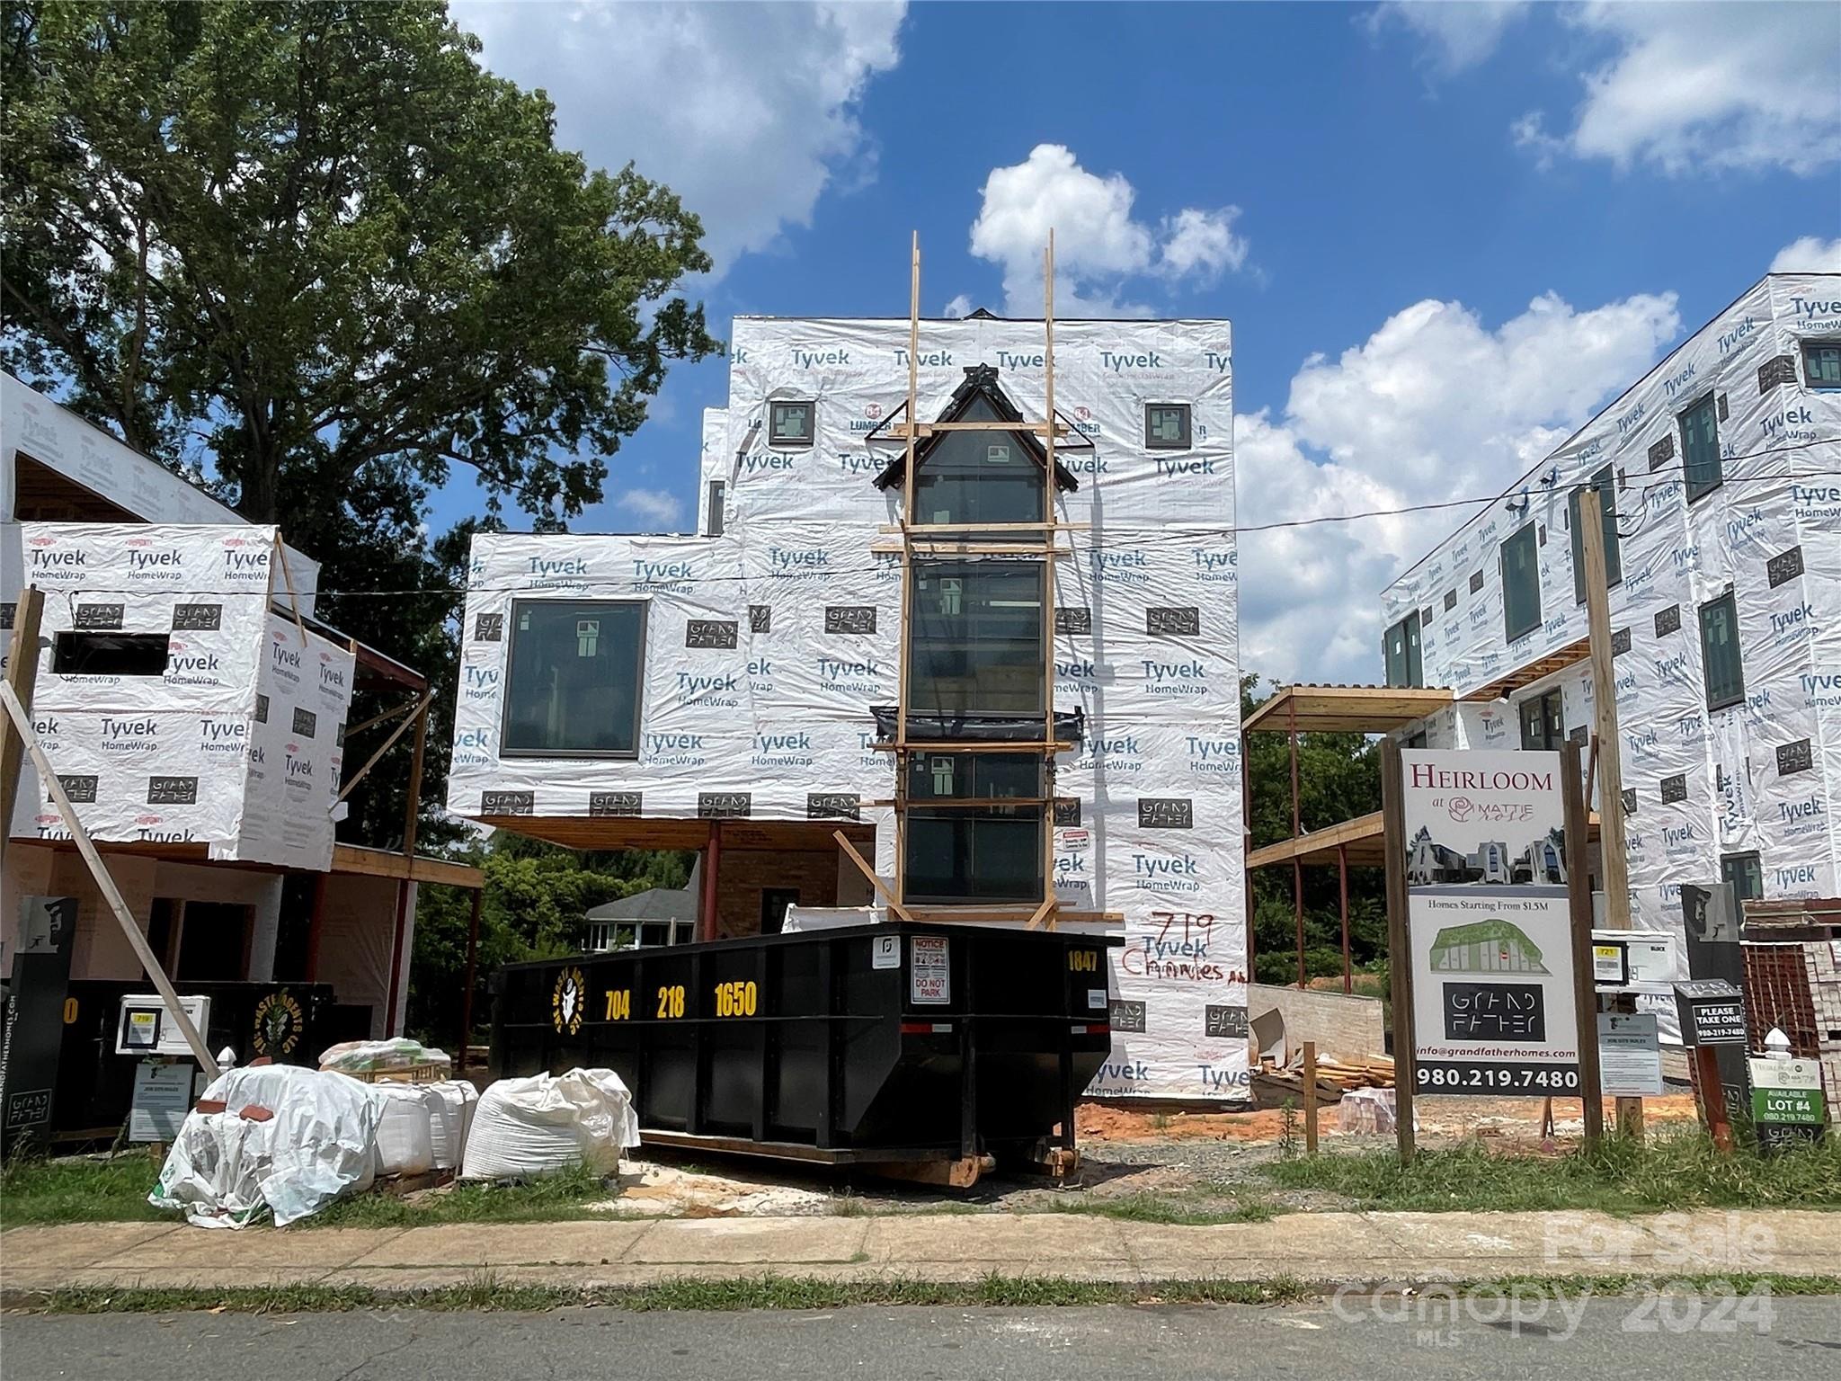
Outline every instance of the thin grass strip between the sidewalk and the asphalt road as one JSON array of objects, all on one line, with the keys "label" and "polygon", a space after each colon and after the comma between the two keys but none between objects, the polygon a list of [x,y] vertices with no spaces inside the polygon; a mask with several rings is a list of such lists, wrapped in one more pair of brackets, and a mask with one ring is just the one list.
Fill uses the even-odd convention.
[{"label": "thin grass strip between the sidewalk and the asphalt road", "polygon": [[[1392,1282],[1399,1289],[1405,1282]],[[1454,1296],[1523,1287],[1546,1298],[1611,1296],[1626,1291],[1651,1291],[1648,1276],[1513,1276],[1500,1280],[1436,1282]],[[1668,1282],[1672,1291],[1771,1294],[1841,1294],[1841,1276],[1681,1276]],[[589,1287],[506,1285],[481,1274],[462,1285],[412,1291],[379,1291],[368,1285],[263,1285],[245,1289],[114,1289],[74,1287],[42,1296],[13,1298],[9,1307],[41,1313],[182,1313],[223,1309],[234,1313],[342,1313],[352,1309],[446,1309],[534,1313],[569,1306],[600,1306],[650,1313],[735,1311],[735,1309],[843,1309],[849,1306],[946,1306],[946,1307],[1092,1307],[1092,1306],[1167,1306],[1167,1304],[1296,1304],[1318,1298],[1327,1285],[1311,1285],[1278,1276],[1272,1280],[1175,1280],[1145,1283],[1108,1283],[990,1274],[970,1283],[917,1280],[836,1282],[803,1276],[755,1276],[747,1280],[670,1280],[657,1285]]]}]

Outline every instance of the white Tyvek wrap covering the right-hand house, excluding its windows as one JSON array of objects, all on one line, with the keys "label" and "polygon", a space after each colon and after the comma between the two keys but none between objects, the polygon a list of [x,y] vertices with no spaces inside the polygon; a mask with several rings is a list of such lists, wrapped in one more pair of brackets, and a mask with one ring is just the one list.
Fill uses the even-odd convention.
[{"label": "white Tyvek wrap covering the right-hand house, excluding its windows", "polygon": [[[1806,387],[1800,357],[1804,339],[1837,335],[1841,274],[1771,274],[1383,595],[1388,624],[1430,611],[1425,683],[1460,698],[1578,643],[1587,619],[1567,495],[1613,466],[1613,672],[1631,911],[1644,928],[1681,932],[1681,886],[1719,882],[1723,854],[1756,851],[1769,899],[1841,891],[1841,390]],[[1688,503],[1679,416],[1708,396],[1723,482]],[[1523,495],[1526,514],[1511,512]],[[1523,523],[1545,536],[1543,619],[1504,646],[1497,551]],[[1745,696],[1708,711],[1699,617],[1727,589]],[[1589,663],[1515,700],[1550,685],[1583,738]],[[1513,748],[1519,735],[1504,702],[1458,703],[1429,724],[1434,748]],[[1672,1007],[1661,1015],[1673,1022]]]}]

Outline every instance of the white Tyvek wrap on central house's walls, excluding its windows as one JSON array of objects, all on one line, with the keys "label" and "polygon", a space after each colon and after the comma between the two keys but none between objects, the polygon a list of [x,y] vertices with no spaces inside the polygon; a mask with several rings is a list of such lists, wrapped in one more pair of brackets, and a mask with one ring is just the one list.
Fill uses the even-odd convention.
[{"label": "white Tyvek wrap on central house's walls, excluding its windows", "polygon": [[[1245,1097],[1232,372],[1226,322],[1060,322],[1057,458],[1081,486],[1059,516],[1055,707],[1084,742],[1055,790],[1057,895],[1121,911],[1114,1057],[1092,1092]],[[1044,409],[1042,326],[926,322],[919,414],[989,365],[1024,416]],[[876,823],[895,871],[891,755],[869,705],[897,700],[902,446],[873,436],[906,401],[902,320],[738,319],[727,409],[705,414],[700,506],[725,481],[722,538],[473,540],[449,808],[462,816],[643,814]],[[810,447],[771,447],[768,400],[812,400]],[[1145,403],[1189,403],[1191,446],[1145,447]],[[1018,457],[1018,462],[1024,462]],[[707,519],[707,514],[705,514]],[[501,687],[527,598],[646,609],[637,760],[501,757]],[[1117,926],[1114,926],[1117,928]]]}]

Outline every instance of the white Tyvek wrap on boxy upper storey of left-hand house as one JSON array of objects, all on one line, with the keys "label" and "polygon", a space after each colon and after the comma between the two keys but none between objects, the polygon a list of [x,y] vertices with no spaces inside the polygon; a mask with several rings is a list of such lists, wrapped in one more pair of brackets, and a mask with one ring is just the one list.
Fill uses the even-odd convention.
[{"label": "white Tyvek wrap on boxy upper storey of left-hand house", "polygon": [[[85,829],[105,841],[206,843],[212,858],[324,869],[331,794],[295,792],[280,821],[265,773],[333,783],[353,657],[271,611],[272,527],[26,523],[26,578],[44,591],[33,725]],[[311,694],[276,683],[269,644],[285,628],[313,667]],[[156,676],[61,674],[59,633],[166,633]],[[11,633],[7,633],[11,639]],[[320,667],[342,694],[317,685]],[[309,705],[309,748],[271,744],[269,698]],[[295,716],[287,716],[295,724]],[[306,764],[306,766],[300,766]],[[15,836],[68,838],[29,770]]]}]

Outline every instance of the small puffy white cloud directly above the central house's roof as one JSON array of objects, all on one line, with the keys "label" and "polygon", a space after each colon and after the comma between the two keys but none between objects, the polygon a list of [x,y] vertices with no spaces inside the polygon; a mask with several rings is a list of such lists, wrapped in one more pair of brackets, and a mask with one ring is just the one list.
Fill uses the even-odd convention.
[{"label": "small puffy white cloud directly above the central house's roof", "polygon": [[1099,177],[1060,144],[1038,144],[1009,168],[992,168],[972,223],[972,254],[1003,269],[1005,311],[1042,311],[1042,249],[1055,230],[1055,315],[1145,317],[1123,300],[1127,280],[1206,282],[1246,261],[1232,232],[1237,206],[1186,208],[1156,228],[1132,219],[1132,184]]}]

